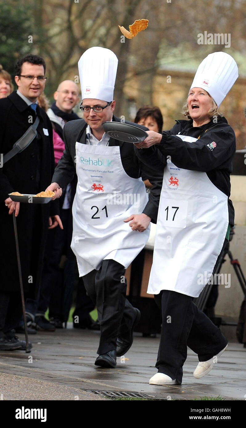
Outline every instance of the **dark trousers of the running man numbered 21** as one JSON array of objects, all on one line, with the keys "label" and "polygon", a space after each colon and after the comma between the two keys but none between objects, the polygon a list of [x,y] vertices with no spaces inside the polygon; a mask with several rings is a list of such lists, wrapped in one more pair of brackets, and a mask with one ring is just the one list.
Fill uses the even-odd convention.
[{"label": "dark trousers of the running man numbered 21", "polygon": [[126,299],[125,268],[115,260],[103,260],[99,270],[83,276],[87,294],[98,309],[101,336],[97,353],[116,349],[117,336],[127,337],[136,311]]}]

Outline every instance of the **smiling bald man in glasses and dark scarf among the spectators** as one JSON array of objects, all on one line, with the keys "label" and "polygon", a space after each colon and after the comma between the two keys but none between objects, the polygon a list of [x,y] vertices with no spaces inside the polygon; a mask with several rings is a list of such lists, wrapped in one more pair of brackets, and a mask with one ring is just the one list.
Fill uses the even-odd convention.
[{"label": "smiling bald man in glasses and dark scarf among the spectators", "polygon": [[[80,119],[73,112],[73,108],[79,101],[79,89],[73,80],[61,82],[54,93],[54,102],[47,115],[53,126],[53,146],[55,163],[62,157],[65,148],[62,140],[62,129],[66,122]],[[64,190],[64,189],[63,189]],[[64,197],[59,199],[60,217],[62,218],[64,230],[62,233],[52,233],[49,230],[47,245],[44,254],[44,269],[39,296],[38,313],[36,314],[36,330],[54,331],[55,328],[62,328],[66,319],[67,306],[70,309],[72,288],[74,283],[75,258],[71,251],[70,243],[72,238],[72,203],[76,190],[76,182],[68,184],[64,191]],[[67,256],[67,261],[63,272],[59,268],[62,254]],[[52,264],[50,260],[52,259]],[[66,290],[66,291],[65,291]],[[63,295],[66,292],[66,308],[63,304]],[[69,298],[70,297],[70,298]],[[44,317],[49,306],[50,321]],[[93,306],[94,307],[94,306]],[[93,308],[92,308],[93,309]]]}]

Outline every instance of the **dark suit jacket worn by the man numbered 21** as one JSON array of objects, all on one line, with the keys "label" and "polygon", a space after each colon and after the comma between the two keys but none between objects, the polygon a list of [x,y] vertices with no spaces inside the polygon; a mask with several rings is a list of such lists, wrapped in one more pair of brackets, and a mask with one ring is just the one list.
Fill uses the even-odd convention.
[{"label": "dark suit jacket worn by the man numbered 21", "polygon": [[[116,116],[113,116],[113,121],[120,122],[120,119]],[[136,123],[127,121],[125,123],[138,126],[145,131],[148,130],[148,128],[145,128],[141,125],[136,125]],[[52,178],[52,182],[58,183],[60,187],[66,187],[76,173],[75,143],[78,141],[79,143],[85,144],[86,126],[87,124],[85,120],[79,119],[66,123],[63,128],[63,141],[65,143],[65,150],[63,152],[62,158],[59,160],[58,165],[56,166]],[[109,146],[119,146],[122,166],[127,175],[132,178],[139,178],[142,174],[144,174],[149,179],[151,184],[153,184],[151,194],[149,195],[149,201],[145,206],[143,213],[151,217],[151,221],[153,223],[156,223],[163,178],[163,165],[160,163],[159,168],[155,167],[155,169],[145,166],[137,158],[134,151],[134,145],[132,143],[124,143],[123,141],[115,140],[110,137]]]}]

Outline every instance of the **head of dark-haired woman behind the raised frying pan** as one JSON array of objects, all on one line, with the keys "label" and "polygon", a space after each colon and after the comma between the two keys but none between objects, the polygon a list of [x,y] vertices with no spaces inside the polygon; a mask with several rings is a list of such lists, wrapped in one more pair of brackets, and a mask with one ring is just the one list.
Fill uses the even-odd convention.
[{"label": "head of dark-haired woman behind the raised frying pan", "polygon": [[134,122],[146,126],[150,131],[161,132],[163,128],[163,117],[159,107],[139,108]]}]

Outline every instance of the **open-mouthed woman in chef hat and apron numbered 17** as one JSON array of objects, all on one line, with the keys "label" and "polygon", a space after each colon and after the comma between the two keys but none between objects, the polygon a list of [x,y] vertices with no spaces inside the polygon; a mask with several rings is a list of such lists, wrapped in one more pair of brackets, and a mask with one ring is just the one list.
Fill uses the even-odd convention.
[{"label": "open-mouthed woman in chef hat and apron numbered 17", "polygon": [[[193,303],[213,272],[234,224],[229,199],[235,134],[217,109],[238,77],[234,59],[211,53],[199,65],[184,107],[190,120],[136,144],[139,158],[166,163],[148,293],[162,310],[156,367],[149,383],[182,382],[187,345],[198,354],[194,376],[212,369],[227,347],[220,330]],[[203,278],[203,280],[201,280]]]}]

